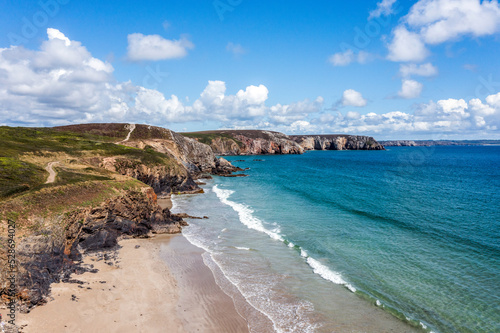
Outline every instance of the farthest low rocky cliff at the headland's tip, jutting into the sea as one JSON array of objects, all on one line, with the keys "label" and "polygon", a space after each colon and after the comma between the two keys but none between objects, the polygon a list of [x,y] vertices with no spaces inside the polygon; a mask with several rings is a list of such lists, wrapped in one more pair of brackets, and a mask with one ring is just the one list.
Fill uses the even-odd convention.
[{"label": "farthest low rocky cliff at the headland's tip, jutting into the sea", "polygon": [[384,150],[384,146],[370,136],[294,135],[291,138],[304,150]]}]

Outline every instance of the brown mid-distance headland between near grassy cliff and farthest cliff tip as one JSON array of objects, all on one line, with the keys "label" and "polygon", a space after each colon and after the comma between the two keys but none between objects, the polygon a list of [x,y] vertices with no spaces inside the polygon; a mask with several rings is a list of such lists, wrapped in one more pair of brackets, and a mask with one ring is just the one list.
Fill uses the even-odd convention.
[{"label": "brown mid-distance headland between near grassy cliff and farthest cliff tip", "polygon": [[289,136],[272,131],[219,130],[182,133],[210,145],[216,155],[302,154],[303,149]]}]

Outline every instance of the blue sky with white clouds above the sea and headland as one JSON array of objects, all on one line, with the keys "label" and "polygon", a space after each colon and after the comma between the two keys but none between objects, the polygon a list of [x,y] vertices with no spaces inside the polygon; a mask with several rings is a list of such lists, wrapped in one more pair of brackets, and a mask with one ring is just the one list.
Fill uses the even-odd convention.
[{"label": "blue sky with white clouds above the sea and headland", "polygon": [[500,139],[496,0],[0,6],[0,125]]}]

